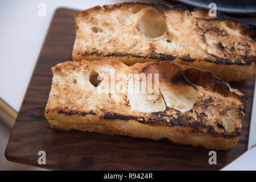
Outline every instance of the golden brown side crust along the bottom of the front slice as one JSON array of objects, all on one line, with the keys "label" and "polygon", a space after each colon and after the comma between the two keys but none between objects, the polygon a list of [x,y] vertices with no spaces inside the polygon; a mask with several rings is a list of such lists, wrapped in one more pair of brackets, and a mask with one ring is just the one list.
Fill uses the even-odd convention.
[{"label": "golden brown side crust along the bottom of the front slice", "polygon": [[[102,119],[97,115],[64,115],[49,113],[47,115],[50,126],[59,130],[89,131],[108,135],[126,135],[136,138],[148,138],[159,140],[170,139],[176,144],[201,146],[213,150],[229,150],[236,146],[240,137],[223,138],[213,137],[205,133],[195,133],[192,127],[160,125],[143,125],[134,119],[124,121],[123,119]],[[83,122],[84,121],[84,122]],[[86,121],[86,122],[85,122]],[[122,127],[119,127],[122,126]]]}]

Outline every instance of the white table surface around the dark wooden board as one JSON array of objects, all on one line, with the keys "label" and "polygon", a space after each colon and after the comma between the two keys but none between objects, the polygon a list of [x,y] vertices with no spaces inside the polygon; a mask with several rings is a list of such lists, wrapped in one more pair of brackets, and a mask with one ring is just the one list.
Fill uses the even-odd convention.
[{"label": "white table surface around the dark wooden board", "polygon": [[[125,1],[127,2],[128,0]],[[16,111],[19,111],[44,38],[46,37],[49,23],[57,7],[84,10],[97,5],[125,1],[0,1],[0,98]],[[141,2],[162,2],[168,4],[167,1],[148,0]],[[38,16],[39,3],[46,5],[46,16]],[[241,18],[240,20],[252,24],[256,23],[255,18]],[[256,102],[254,102],[251,122],[256,122]],[[250,138],[254,139],[250,140],[249,146],[256,143],[256,133],[254,132],[250,135]]]}]

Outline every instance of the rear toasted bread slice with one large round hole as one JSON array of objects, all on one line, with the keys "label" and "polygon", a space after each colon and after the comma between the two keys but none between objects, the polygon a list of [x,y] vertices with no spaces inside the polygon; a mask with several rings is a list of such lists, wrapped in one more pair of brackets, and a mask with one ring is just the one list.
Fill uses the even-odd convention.
[{"label": "rear toasted bread slice with one large round hole", "polygon": [[208,10],[159,3],[118,3],[75,14],[73,60],[118,59],[127,65],[168,60],[225,81],[256,73],[255,26]]}]

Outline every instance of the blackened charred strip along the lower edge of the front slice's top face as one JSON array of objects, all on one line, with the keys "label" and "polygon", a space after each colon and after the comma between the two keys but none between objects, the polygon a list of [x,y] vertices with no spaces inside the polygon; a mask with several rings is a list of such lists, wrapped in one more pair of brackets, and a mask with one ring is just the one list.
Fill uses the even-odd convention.
[{"label": "blackened charred strip along the lower edge of the front slice's top face", "polygon": [[[209,101],[205,101],[205,105],[206,102],[211,102]],[[170,110],[174,110],[176,114],[172,113],[172,114],[168,114],[168,111]],[[244,108],[240,107],[240,110],[244,112]],[[47,110],[46,113],[49,113],[50,111]],[[83,117],[87,114],[92,114],[92,115],[96,115],[96,113],[94,113],[93,111],[89,111],[89,112],[80,112],[77,110],[70,110],[70,111],[65,111],[62,109],[59,109],[57,111],[57,113],[59,114],[65,114],[65,115],[75,115],[75,114],[79,114],[82,115]],[[203,118],[205,117],[205,113],[200,113],[197,114],[197,117],[203,121]],[[191,127],[193,128],[193,132],[197,133],[207,133],[210,134],[214,137],[224,137],[224,138],[234,138],[234,137],[238,137],[240,136],[240,129],[237,129],[233,132],[233,133],[226,133],[226,131],[224,131],[224,133],[217,133],[214,130],[214,127],[211,125],[206,126],[204,122],[202,121],[193,121],[193,118],[189,117],[189,116],[184,116],[181,115],[180,111],[177,111],[175,109],[172,109],[170,107],[167,107],[167,109],[165,111],[158,111],[158,112],[154,112],[151,113],[151,117],[149,117],[148,119],[145,119],[144,117],[136,117],[133,115],[122,115],[122,114],[117,114],[117,113],[110,113],[110,112],[105,112],[104,114],[104,119],[121,119],[124,121],[128,121],[128,120],[134,120],[137,121],[139,123],[142,124],[151,124],[151,125],[162,125],[162,126],[168,126],[168,127],[172,127],[172,126],[184,126],[184,127]],[[176,117],[174,117],[174,115],[176,115]],[[243,114],[241,114],[241,117],[243,117]],[[169,118],[169,119],[168,119]],[[218,126],[218,127],[222,127],[222,126]],[[207,130],[205,130],[207,129]]]}]

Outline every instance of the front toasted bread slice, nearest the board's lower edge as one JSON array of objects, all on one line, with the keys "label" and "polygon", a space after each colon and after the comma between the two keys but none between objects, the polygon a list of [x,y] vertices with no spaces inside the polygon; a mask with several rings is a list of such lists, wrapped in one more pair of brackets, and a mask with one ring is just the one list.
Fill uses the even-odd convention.
[{"label": "front toasted bread slice, nearest the board's lower edge", "polygon": [[[247,97],[210,72],[170,61],[127,66],[118,60],[67,61],[52,71],[45,115],[54,129],[168,138],[214,150],[229,150],[240,138]],[[136,79],[141,92],[133,92]]]}]

